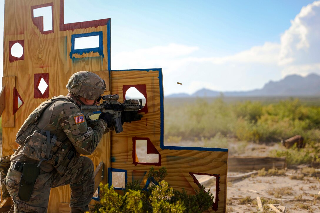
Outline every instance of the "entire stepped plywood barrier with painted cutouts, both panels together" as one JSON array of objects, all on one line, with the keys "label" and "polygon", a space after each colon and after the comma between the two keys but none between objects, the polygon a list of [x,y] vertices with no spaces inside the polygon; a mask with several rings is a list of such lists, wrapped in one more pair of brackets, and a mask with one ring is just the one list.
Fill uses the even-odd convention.
[{"label": "entire stepped plywood barrier with painted cutouts, both panels together", "polygon": [[[52,8],[52,30],[43,31],[43,17],[34,17],[33,10],[48,6]],[[142,120],[125,123],[119,134],[104,135],[90,155],[94,165],[105,163],[102,182],[111,183],[112,172],[124,172],[126,182],[138,180],[146,185],[149,168],[165,166],[169,173],[165,180],[172,187],[184,188],[192,194],[197,189],[196,174],[213,176],[217,179],[218,190],[214,195],[218,199],[209,211],[225,212],[228,150],[165,146],[162,70],[111,71],[110,29],[110,19],[64,24],[64,0],[5,0],[2,154],[12,154],[12,149],[18,146],[14,142],[16,132],[33,109],[46,99],[67,94],[65,85],[73,73],[96,72],[107,84],[105,94],[119,94],[120,102],[130,87],[137,88],[146,98],[146,106],[140,111]],[[100,36],[99,48],[74,49],[76,37],[93,35]],[[23,46],[20,58],[10,53],[14,43]],[[36,89],[41,77],[49,85],[44,94]],[[18,98],[22,100],[21,106]],[[156,156],[156,160],[139,160],[138,141],[146,142],[147,154]],[[69,186],[52,189],[48,212],[68,212],[69,199]]]}]

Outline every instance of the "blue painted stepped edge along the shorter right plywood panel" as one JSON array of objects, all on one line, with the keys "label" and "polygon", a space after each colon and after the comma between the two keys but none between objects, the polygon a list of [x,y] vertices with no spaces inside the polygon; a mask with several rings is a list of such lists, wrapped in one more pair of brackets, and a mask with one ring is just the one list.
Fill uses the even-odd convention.
[{"label": "blue painted stepped edge along the shorter right plywood panel", "polygon": [[171,150],[197,150],[197,151],[213,151],[213,152],[228,152],[225,148],[207,148],[207,147],[193,147],[193,146],[164,146],[164,98],[163,98],[163,80],[162,68],[154,69],[125,69],[125,70],[111,70],[111,71],[148,71],[159,72],[159,87],[160,87],[160,148]]}]

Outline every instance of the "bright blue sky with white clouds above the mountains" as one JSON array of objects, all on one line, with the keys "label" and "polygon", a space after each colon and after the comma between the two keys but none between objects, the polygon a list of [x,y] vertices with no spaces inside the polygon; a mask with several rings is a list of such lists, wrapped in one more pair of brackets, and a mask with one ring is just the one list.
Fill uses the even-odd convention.
[{"label": "bright blue sky with white clouds above the mountains", "polygon": [[319,17],[319,2],[304,0],[65,0],[65,23],[111,18],[111,68],[163,68],[165,95],[320,74]]}]

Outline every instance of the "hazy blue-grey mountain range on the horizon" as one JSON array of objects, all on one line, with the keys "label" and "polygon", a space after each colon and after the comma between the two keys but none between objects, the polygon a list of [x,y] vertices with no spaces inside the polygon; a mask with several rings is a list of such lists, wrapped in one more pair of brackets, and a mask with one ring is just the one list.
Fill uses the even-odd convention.
[{"label": "hazy blue-grey mountain range on the horizon", "polygon": [[224,96],[320,96],[320,76],[316,74],[310,74],[306,77],[288,75],[280,81],[269,81],[262,89],[251,91],[220,92],[201,89],[192,95],[179,93],[166,97],[218,97],[221,94]]}]

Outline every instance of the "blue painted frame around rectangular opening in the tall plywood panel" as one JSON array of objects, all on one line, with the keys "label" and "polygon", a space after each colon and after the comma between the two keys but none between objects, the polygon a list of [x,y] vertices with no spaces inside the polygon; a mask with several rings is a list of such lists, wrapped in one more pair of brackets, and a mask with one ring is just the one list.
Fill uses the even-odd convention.
[{"label": "blue painted frame around rectangular opening in the tall plywood panel", "polygon": [[[95,36],[99,35],[99,47],[95,48],[85,48],[85,49],[78,49],[75,50],[75,39],[81,38],[81,37],[89,37],[89,36]],[[108,35],[107,35],[108,36]],[[81,34],[73,34],[71,35],[71,51],[70,51],[70,59],[76,59],[76,57],[72,57],[73,54],[78,53],[79,55],[82,55],[83,53],[89,53],[89,52],[98,52],[99,55],[104,58],[103,55],[103,32],[91,32],[91,33],[81,33]]]}]

